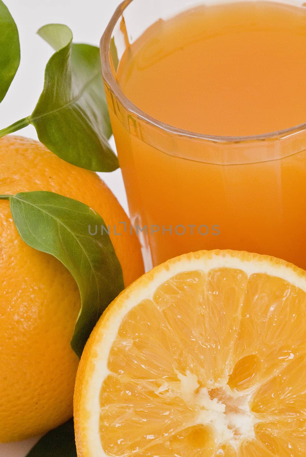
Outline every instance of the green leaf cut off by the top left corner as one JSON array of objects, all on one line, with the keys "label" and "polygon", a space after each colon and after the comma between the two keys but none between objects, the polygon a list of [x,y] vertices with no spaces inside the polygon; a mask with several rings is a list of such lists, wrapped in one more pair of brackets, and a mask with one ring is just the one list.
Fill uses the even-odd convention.
[{"label": "green leaf cut off by the top left corner", "polygon": [[18,30],[9,10],[0,0],[0,102],[14,79],[19,63]]}]

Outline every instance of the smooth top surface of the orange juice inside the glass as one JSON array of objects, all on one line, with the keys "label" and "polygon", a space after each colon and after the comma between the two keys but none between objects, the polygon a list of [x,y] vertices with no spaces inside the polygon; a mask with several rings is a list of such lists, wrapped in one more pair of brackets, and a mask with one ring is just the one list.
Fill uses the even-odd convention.
[{"label": "smooth top surface of the orange juice inside the glass", "polygon": [[118,82],[150,116],[217,136],[306,122],[306,8],[201,6],[153,24],[124,53]]}]

